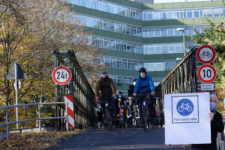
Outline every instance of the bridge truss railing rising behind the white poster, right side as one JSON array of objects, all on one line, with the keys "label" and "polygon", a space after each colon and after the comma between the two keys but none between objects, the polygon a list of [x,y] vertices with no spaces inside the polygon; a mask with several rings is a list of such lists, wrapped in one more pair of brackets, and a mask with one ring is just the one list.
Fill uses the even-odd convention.
[{"label": "bridge truss railing rising behind the white poster, right side", "polygon": [[157,86],[156,92],[161,100],[161,110],[163,110],[165,94],[195,93],[199,91],[200,81],[197,77],[199,61],[196,57],[198,48],[198,46],[194,46]]}]

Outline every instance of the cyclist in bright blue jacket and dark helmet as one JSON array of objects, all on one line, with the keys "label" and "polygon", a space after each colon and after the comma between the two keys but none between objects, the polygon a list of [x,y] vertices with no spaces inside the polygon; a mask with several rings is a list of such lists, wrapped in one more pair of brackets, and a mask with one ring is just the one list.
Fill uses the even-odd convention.
[{"label": "cyclist in bright blue jacket and dark helmet", "polygon": [[[140,68],[139,70],[139,77],[137,78],[136,84],[134,86],[133,96],[136,97],[137,93],[139,95],[148,95],[147,97],[155,95],[154,82],[152,81],[152,77],[147,75],[146,69],[144,67]],[[143,97],[140,97],[139,99],[140,108],[141,108],[142,102],[143,102]],[[150,102],[149,103],[150,111],[152,110],[152,105],[153,103]],[[142,112],[141,112],[141,117],[142,117]]]}]

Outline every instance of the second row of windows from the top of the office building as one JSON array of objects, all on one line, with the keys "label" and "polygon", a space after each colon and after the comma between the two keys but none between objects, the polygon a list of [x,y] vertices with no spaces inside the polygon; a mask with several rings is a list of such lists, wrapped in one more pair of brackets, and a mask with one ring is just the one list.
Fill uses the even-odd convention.
[{"label": "second row of windows from the top of the office building", "polygon": [[[117,32],[137,37],[170,37],[170,36],[181,36],[181,32],[178,32],[176,29],[178,26],[169,26],[169,27],[148,27],[148,28],[142,28],[139,26],[114,22],[110,20],[105,19],[99,19],[99,18],[93,18],[90,16],[85,15],[78,15],[78,18],[80,20],[79,24],[91,27],[91,28],[97,28],[101,30],[111,31],[111,32]],[[201,28],[200,33],[202,33],[203,29],[207,27],[205,25],[201,26],[185,26],[185,35],[194,35],[195,32],[193,32],[196,28]]]}]

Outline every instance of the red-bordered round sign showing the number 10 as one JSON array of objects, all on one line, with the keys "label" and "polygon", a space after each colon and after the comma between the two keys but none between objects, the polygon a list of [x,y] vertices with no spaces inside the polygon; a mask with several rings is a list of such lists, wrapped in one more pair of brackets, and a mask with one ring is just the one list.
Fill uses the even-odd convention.
[{"label": "red-bordered round sign showing the number 10", "polygon": [[203,65],[198,69],[198,78],[203,83],[210,83],[216,79],[216,69],[211,65]]}]

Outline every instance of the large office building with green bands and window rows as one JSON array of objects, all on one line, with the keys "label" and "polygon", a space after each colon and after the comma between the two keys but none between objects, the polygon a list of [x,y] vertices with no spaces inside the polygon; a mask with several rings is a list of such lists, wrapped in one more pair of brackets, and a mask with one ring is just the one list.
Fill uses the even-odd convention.
[{"label": "large office building with green bands and window rows", "polygon": [[66,1],[104,55],[101,65],[124,93],[140,67],[157,86],[195,44],[190,38],[194,30],[202,33],[207,19],[220,23],[225,16],[222,0]]}]

